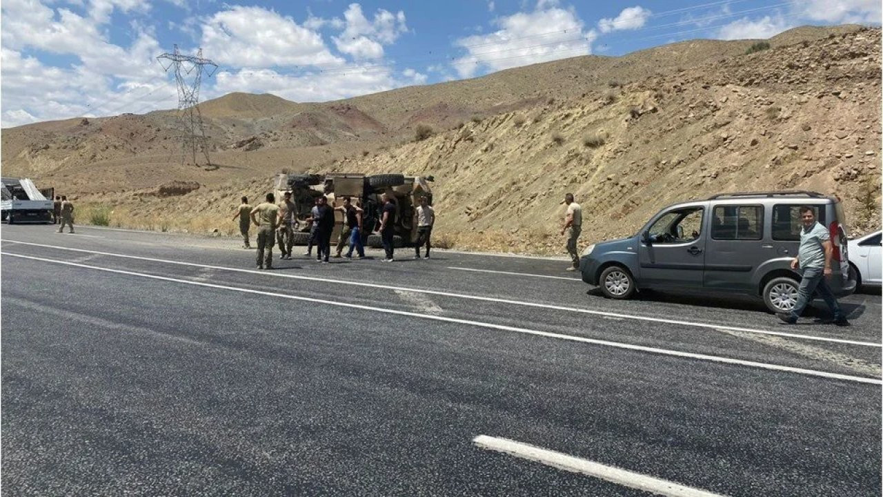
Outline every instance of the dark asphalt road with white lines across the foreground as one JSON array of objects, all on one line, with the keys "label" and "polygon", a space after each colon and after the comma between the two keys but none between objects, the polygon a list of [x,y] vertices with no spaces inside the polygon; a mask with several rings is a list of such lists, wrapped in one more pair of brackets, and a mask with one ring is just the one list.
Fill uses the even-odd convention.
[{"label": "dark asphalt road with white lines across the foreground", "polygon": [[785,326],[610,301],[561,260],[257,271],[236,241],[77,230],[0,233],[9,495],[649,494],[479,435],[714,494],[881,493],[879,294]]}]

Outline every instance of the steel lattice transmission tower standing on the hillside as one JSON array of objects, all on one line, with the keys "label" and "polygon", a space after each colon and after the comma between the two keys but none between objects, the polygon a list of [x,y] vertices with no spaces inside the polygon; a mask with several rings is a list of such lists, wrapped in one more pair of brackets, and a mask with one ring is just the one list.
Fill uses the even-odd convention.
[{"label": "steel lattice transmission tower standing on the hillside", "polygon": [[[181,164],[184,164],[184,157],[189,151],[192,156],[193,165],[196,165],[196,153],[199,149],[206,157],[207,167],[211,167],[212,161],[208,158],[208,141],[206,141],[206,130],[202,126],[202,114],[200,113],[200,84],[202,83],[202,73],[208,73],[211,77],[218,68],[218,65],[202,57],[202,49],[196,52],[195,56],[184,55],[177,50],[172,53],[166,52],[156,57],[162,65],[162,59],[169,60],[168,65],[162,65],[162,69],[168,71],[170,67],[175,67],[175,80],[177,82],[177,110],[178,119],[184,128],[184,135],[181,137]],[[210,66],[210,72],[207,66]]]}]

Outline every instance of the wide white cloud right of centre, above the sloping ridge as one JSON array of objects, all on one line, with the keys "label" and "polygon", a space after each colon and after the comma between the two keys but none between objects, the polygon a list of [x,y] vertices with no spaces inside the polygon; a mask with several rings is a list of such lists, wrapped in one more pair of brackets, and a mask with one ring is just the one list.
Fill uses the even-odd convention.
[{"label": "wide white cloud right of centre, above the sloping ridge", "polygon": [[583,21],[573,10],[541,0],[537,9],[495,19],[500,27],[490,34],[460,38],[454,45],[466,50],[453,67],[460,77],[468,78],[488,68],[492,71],[536,64],[564,57],[592,53],[594,30],[583,31]]}]

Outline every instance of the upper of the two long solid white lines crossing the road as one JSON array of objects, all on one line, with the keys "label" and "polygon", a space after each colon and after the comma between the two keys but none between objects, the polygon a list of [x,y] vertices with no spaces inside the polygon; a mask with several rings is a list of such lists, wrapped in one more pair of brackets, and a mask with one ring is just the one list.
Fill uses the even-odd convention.
[{"label": "upper of the two long solid white lines crossing the road", "polygon": [[784,336],[784,337],[797,338],[797,339],[803,339],[803,340],[819,340],[819,341],[826,341],[826,342],[831,342],[831,343],[844,343],[844,344],[848,344],[848,345],[859,345],[859,346],[863,346],[863,347],[883,348],[883,343],[873,342],[873,341],[844,340],[844,339],[836,339],[836,338],[818,337],[818,336],[812,336],[812,335],[802,335],[802,334],[797,334],[797,333],[770,332],[767,330],[758,330],[758,329],[754,329],[754,328],[743,328],[740,326],[714,325],[712,323],[693,323],[691,321],[681,321],[679,319],[666,319],[663,317],[649,317],[649,316],[635,316],[632,314],[619,314],[616,312],[608,312],[605,310],[579,309],[576,307],[565,307],[562,305],[552,305],[552,304],[540,303],[540,302],[524,302],[524,301],[516,301],[516,300],[510,300],[510,299],[502,299],[502,298],[497,298],[497,297],[487,297],[487,296],[483,296],[483,295],[457,294],[457,293],[453,293],[453,292],[442,292],[441,290],[426,290],[423,288],[410,288],[410,287],[391,287],[389,285],[381,285],[381,284],[377,284],[377,283],[367,283],[364,281],[347,281],[347,280],[343,280],[343,279],[320,278],[318,276],[305,276],[305,275],[298,275],[298,274],[285,274],[282,272],[257,271],[257,270],[253,270],[253,269],[242,269],[242,268],[238,268],[238,267],[215,266],[215,265],[197,264],[197,263],[185,263],[182,261],[172,261],[170,259],[157,259],[154,257],[143,257],[143,256],[126,256],[124,254],[114,254],[113,252],[99,252],[97,250],[86,250],[83,248],[59,247],[56,245],[45,245],[42,243],[31,243],[28,241],[13,241],[13,242],[21,244],[21,245],[32,245],[34,247],[57,248],[58,250],[70,250],[73,252],[86,252],[88,254],[100,254],[102,256],[121,257],[121,258],[125,258],[125,259],[150,261],[150,262],[154,262],[154,263],[177,264],[177,265],[183,265],[183,266],[203,267],[203,268],[210,268],[210,269],[223,270],[223,271],[245,272],[245,273],[250,273],[250,274],[260,274],[261,276],[272,276],[272,277],[276,277],[276,278],[302,279],[305,281],[320,281],[322,283],[336,283],[338,285],[350,285],[352,287],[381,288],[381,289],[385,289],[385,290],[404,290],[405,292],[418,292],[420,294],[440,295],[440,296],[444,296],[444,297],[470,299],[470,300],[482,301],[482,302],[497,302],[497,303],[506,303],[506,304],[511,304],[511,305],[521,305],[521,306],[525,306],[525,307],[536,307],[536,308],[540,308],[540,309],[579,312],[582,314],[589,314],[592,316],[622,317],[623,319],[634,319],[636,321],[647,321],[647,322],[651,322],[651,323],[665,323],[668,325],[691,326],[691,327],[706,328],[706,329],[711,329],[711,330],[717,330],[720,328],[723,330],[733,330],[736,332],[761,333],[761,334],[766,334],[766,335]]}]

